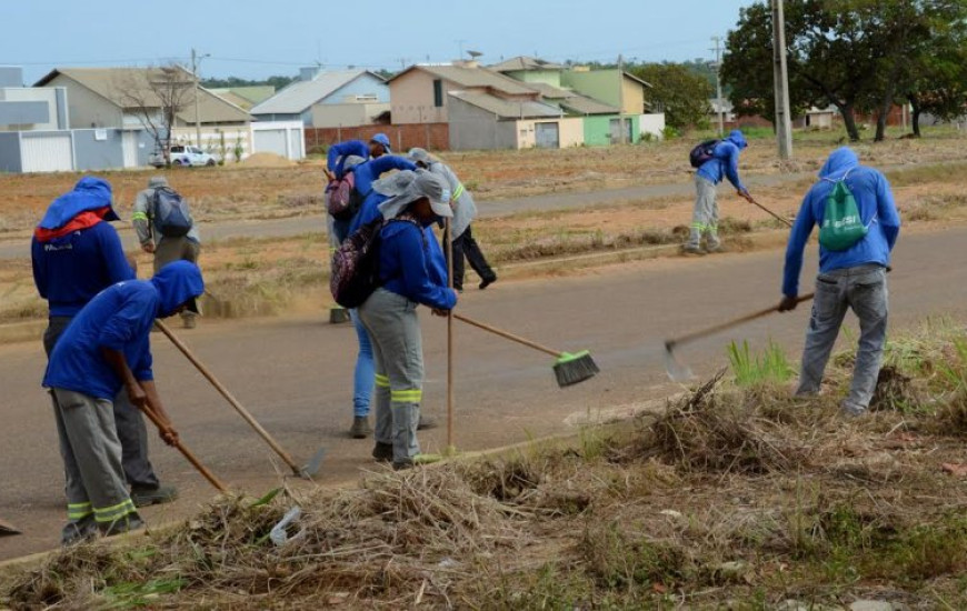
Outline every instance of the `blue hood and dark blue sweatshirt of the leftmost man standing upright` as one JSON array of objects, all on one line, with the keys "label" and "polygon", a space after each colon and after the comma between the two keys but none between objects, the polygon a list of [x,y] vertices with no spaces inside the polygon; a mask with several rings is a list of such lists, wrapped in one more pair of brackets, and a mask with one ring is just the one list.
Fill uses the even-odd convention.
[{"label": "blue hood and dark blue sweatshirt of the leftmost man standing upright", "polygon": [[49,240],[34,234],[31,242],[33,282],[48,301],[50,315],[73,317],[101,290],[122,280],[133,280],[134,270],[124,258],[111,208],[111,186],[99,178],[84,177],[72,191],[50,204],[38,224],[58,230],[81,212],[109,208],[102,221]]}]

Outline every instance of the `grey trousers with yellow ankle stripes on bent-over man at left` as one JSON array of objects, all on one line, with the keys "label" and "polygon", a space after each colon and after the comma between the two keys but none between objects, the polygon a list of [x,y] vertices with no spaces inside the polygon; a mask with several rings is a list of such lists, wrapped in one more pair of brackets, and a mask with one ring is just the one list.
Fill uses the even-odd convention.
[{"label": "grey trousers with yellow ankle stripes on bent-over man at left", "polygon": [[121,468],[121,442],[111,402],[54,388],[53,413],[66,477],[68,521],[107,529],[137,517]]}]

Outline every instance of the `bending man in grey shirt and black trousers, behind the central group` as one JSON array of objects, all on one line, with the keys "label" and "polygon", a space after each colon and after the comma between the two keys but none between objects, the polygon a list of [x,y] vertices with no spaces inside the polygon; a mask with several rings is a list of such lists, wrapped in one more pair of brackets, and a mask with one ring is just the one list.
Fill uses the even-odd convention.
[{"label": "bending man in grey shirt and black trousers, behind the central group", "polygon": [[[487,262],[477,240],[473,239],[471,222],[477,217],[477,206],[453,170],[437,159],[432,159],[425,149],[410,149],[409,158],[420,168],[429,170],[447,181],[452,194],[453,218],[450,221],[450,230],[453,232],[453,288],[463,290],[463,258],[470,262],[470,267],[480,277],[480,290],[486,289],[497,281],[497,273]],[[443,236],[446,242],[447,236]],[[448,249],[443,248],[443,254],[449,258]]]}]

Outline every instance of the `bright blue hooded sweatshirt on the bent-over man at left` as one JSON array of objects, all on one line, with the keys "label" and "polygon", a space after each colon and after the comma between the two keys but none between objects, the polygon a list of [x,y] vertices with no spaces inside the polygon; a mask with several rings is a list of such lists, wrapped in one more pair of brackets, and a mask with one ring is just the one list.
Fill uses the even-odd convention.
[{"label": "bright blue hooded sweatshirt on the bent-over man at left", "polygon": [[113,399],[123,382],[104,359],[102,348],[123,352],[137,380],[152,380],[151,324],[203,292],[201,271],[188,261],[165,266],[151,280],[128,280],[104,289],[58,340],[43,385]]}]

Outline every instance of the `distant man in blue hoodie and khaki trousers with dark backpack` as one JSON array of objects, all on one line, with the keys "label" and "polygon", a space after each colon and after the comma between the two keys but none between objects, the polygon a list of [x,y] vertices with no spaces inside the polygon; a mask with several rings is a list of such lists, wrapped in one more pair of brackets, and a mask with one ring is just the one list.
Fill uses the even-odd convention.
[{"label": "distant man in blue hoodie and khaki trousers with dark backpack", "polygon": [[[739,179],[739,153],[748,147],[741,130],[732,130],[725,140],[715,143],[707,161],[695,172],[695,211],[691,216],[691,231],[688,242],[682,247],[686,254],[701,256],[707,252],[721,251],[721,239],[718,236],[718,202],[716,187],[722,177],[727,178],[739,196],[752,201],[748,189]],[[705,249],[701,246],[706,237]]]}]

